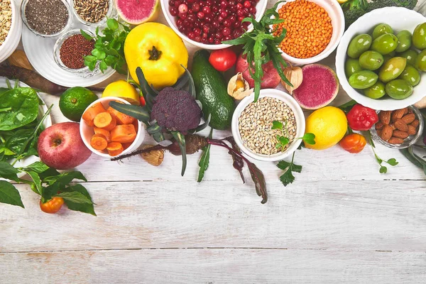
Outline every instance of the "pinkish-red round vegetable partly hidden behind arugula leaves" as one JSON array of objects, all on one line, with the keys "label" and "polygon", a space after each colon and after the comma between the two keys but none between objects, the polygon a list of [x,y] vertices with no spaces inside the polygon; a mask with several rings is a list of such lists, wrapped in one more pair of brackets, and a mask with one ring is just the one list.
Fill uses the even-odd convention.
[{"label": "pinkish-red round vegetable partly hidden behind arugula leaves", "polygon": [[[261,89],[275,89],[278,86],[278,84],[280,84],[281,77],[278,74],[278,71],[275,70],[275,67],[273,67],[272,61],[269,61],[263,64],[262,69],[263,69],[263,78],[261,83]],[[239,55],[238,59],[236,60],[235,70],[236,72],[243,73],[243,78],[249,83],[250,88],[254,87],[254,80],[250,76],[250,72],[249,72],[249,63],[247,62],[246,57],[245,56],[243,57],[242,54]]]}]

